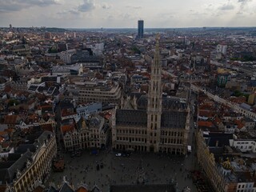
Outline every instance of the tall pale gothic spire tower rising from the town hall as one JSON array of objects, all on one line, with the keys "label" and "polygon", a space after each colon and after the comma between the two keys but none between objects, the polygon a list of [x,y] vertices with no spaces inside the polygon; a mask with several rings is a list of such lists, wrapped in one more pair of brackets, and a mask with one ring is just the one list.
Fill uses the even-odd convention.
[{"label": "tall pale gothic spire tower rising from the town hall", "polygon": [[156,38],[154,62],[151,65],[150,89],[147,102],[147,151],[158,152],[162,114],[162,82],[159,56],[159,34]]}]

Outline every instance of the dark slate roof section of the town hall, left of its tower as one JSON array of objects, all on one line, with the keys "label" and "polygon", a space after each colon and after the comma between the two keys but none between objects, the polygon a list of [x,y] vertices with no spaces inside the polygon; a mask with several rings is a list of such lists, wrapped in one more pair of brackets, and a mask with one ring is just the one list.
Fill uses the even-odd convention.
[{"label": "dark slate roof section of the town hall, left of its tower", "polygon": [[117,126],[144,126],[147,125],[146,110],[117,110]]}]

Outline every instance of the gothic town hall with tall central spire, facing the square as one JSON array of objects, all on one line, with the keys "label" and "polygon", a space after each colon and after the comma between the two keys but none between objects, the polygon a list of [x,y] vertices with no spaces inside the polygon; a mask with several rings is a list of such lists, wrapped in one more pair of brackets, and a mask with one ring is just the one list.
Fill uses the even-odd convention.
[{"label": "gothic town hall with tall central spire, facing the square", "polygon": [[186,154],[190,131],[189,106],[179,98],[162,97],[159,57],[157,38],[149,94],[138,98],[134,109],[116,109],[113,114],[114,150]]}]

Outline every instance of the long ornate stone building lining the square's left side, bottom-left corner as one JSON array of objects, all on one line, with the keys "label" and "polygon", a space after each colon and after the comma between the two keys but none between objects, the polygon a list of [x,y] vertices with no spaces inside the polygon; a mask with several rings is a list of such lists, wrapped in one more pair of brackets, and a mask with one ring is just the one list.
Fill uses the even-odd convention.
[{"label": "long ornate stone building lining the square's left side, bottom-left corner", "polygon": [[[9,168],[10,175],[14,178],[7,182],[6,189],[9,192],[34,191],[38,182],[42,182],[51,170],[51,161],[57,154],[57,144],[55,136],[50,131],[43,132],[34,145],[37,150],[32,153],[30,150],[22,154],[21,158],[14,162]],[[25,163],[24,169],[19,169]],[[14,170],[14,167],[17,167]]]}]

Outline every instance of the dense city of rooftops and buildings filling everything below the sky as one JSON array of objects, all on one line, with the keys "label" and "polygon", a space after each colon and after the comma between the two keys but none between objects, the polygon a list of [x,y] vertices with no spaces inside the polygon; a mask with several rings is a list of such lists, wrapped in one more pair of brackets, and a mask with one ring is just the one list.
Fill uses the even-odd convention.
[{"label": "dense city of rooftops and buildings filling everything below the sky", "polygon": [[256,28],[0,28],[0,191],[256,191]]}]

